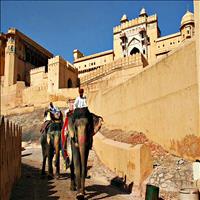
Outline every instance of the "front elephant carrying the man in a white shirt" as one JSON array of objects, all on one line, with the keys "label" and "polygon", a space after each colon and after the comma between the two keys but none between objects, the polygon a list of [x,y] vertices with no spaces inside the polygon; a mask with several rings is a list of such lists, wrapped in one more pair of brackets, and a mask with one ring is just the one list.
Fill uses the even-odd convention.
[{"label": "front elephant carrying the man in a white shirt", "polygon": [[81,200],[84,199],[85,194],[87,161],[89,150],[92,147],[92,137],[101,128],[103,118],[91,113],[90,117],[87,114],[78,118],[71,115],[68,120],[68,132],[72,149],[70,189],[77,189],[76,197]]}]

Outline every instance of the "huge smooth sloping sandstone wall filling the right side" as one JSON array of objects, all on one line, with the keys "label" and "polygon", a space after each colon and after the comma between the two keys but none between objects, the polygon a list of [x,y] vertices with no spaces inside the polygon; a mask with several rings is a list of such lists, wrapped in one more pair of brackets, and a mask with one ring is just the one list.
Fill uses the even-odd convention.
[{"label": "huge smooth sloping sandstone wall filling the right side", "polygon": [[109,128],[141,131],[168,150],[199,158],[194,40],[110,90],[88,96]]}]

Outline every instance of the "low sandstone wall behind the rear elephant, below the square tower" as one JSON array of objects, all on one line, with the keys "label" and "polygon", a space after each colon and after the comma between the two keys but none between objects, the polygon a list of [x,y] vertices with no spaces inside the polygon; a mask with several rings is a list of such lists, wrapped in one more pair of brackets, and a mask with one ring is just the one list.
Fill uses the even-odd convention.
[{"label": "low sandstone wall behind the rear elephant, below the square tower", "polygon": [[66,105],[68,99],[75,99],[79,95],[78,88],[63,88],[54,93],[48,93],[47,83],[25,87],[23,81],[18,81],[15,85],[1,89],[1,114],[9,113],[9,110],[17,107],[46,106],[50,101],[63,101]]}]

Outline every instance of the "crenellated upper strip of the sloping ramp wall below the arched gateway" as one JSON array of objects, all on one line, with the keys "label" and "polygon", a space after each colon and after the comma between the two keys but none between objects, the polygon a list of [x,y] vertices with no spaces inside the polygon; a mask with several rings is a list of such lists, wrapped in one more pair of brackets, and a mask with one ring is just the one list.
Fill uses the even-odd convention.
[{"label": "crenellated upper strip of the sloping ramp wall below the arched gateway", "polygon": [[96,80],[102,76],[112,73],[115,70],[120,70],[127,68],[128,66],[137,67],[143,65],[145,67],[147,65],[147,61],[141,53],[128,56],[125,58],[120,58],[111,63],[105,64],[102,67],[92,71],[91,73],[80,78],[81,84]]}]

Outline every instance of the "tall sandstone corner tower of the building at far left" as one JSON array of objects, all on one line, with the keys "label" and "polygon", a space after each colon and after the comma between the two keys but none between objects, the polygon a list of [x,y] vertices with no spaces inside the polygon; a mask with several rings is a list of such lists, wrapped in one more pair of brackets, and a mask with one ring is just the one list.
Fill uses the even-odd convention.
[{"label": "tall sandstone corner tower of the building at far left", "polygon": [[5,48],[5,82],[4,86],[10,86],[16,83],[16,46],[15,40],[9,38]]}]

